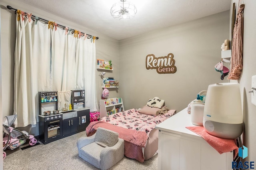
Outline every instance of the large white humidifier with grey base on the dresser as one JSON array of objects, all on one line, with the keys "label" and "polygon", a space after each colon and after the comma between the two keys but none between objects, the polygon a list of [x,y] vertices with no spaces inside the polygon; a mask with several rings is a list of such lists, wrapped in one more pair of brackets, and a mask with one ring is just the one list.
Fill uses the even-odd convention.
[{"label": "large white humidifier with grey base on the dresser", "polygon": [[210,135],[235,139],[243,132],[242,103],[238,83],[208,86],[203,126]]}]

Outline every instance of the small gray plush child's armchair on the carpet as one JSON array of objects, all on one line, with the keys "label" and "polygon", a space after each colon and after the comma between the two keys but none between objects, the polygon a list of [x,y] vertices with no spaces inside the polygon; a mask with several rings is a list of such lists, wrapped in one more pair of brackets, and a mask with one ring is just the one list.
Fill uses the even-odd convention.
[{"label": "small gray plush child's armchair on the carpet", "polygon": [[76,143],[78,155],[90,164],[107,170],[124,157],[124,140],[118,133],[98,127],[90,137],[80,137]]}]

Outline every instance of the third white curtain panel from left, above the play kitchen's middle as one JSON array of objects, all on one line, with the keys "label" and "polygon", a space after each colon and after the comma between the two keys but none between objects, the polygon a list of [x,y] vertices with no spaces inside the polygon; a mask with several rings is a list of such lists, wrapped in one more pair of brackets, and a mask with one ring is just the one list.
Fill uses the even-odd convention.
[{"label": "third white curtain panel from left, above the play kitchen's middle", "polygon": [[53,90],[74,90],[76,39],[65,29],[52,30]]}]

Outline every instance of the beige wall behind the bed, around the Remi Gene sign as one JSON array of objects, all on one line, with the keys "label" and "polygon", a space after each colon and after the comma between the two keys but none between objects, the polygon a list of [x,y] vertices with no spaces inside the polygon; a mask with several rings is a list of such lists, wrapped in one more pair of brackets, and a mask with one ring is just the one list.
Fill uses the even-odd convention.
[{"label": "beige wall behind the bed, around the Remi Gene sign", "polygon": [[[154,22],[152,22],[154,24]],[[229,38],[229,11],[120,40],[120,97],[125,109],[141,108],[158,96],[180,111],[220,79],[215,64]],[[174,55],[177,71],[158,74],[146,69],[146,56]]]}]

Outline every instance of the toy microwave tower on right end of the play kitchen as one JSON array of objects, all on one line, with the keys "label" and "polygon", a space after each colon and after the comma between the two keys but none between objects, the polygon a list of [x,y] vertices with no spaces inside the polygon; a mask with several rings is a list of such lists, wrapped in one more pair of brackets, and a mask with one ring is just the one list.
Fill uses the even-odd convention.
[{"label": "toy microwave tower on right end of the play kitchen", "polygon": [[72,109],[85,107],[85,90],[71,90]]}]

